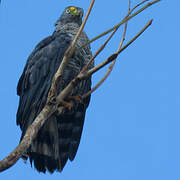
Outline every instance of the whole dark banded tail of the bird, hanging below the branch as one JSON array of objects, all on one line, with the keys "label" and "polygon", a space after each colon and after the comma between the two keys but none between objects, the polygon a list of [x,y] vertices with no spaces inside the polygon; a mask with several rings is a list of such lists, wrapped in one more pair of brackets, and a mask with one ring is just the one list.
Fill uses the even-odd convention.
[{"label": "whole dark banded tail of the bird, hanging below the branch", "polygon": [[62,171],[67,160],[74,159],[79,146],[85,112],[53,115],[39,131],[28,150],[34,167],[45,173]]}]

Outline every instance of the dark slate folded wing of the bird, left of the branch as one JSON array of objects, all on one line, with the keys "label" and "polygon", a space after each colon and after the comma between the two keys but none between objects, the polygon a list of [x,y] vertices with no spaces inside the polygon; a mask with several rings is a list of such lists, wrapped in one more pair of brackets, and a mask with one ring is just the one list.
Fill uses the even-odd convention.
[{"label": "dark slate folded wing of the bird, left of the branch", "polygon": [[[70,44],[68,36],[66,36],[66,41],[63,41],[63,43],[58,43],[60,39],[65,39],[64,33],[58,36],[58,41],[53,36],[42,40],[29,56],[20,77],[17,86],[17,94],[20,96],[17,124],[20,125],[23,131],[26,131],[34,117],[42,110],[41,106],[36,111],[36,106],[37,104],[45,104],[50,83],[58,68],[57,64],[61,63],[64,52]],[[41,99],[41,97],[45,98]]]}]

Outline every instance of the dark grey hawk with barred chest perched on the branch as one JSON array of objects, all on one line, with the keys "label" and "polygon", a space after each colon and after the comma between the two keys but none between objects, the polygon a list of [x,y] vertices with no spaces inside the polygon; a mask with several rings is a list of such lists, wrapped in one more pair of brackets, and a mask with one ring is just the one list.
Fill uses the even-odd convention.
[{"label": "dark grey hawk with barred chest perched on the branch", "polygon": [[[52,35],[40,41],[27,58],[17,85],[19,105],[16,123],[22,130],[21,140],[47,102],[48,91],[67,48],[70,46],[80,25],[83,9],[76,6],[65,8],[55,23]],[[60,93],[77,76],[92,57],[88,36],[82,31],[75,45],[75,52],[64,68],[57,87]],[[82,48],[80,48],[82,47]],[[90,63],[89,69],[94,66]],[[91,90],[91,77],[81,80],[58,105],[39,130],[36,138],[22,158],[29,159],[38,172],[61,172],[68,160],[73,161],[80,143],[86,109],[90,96],[81,98]]]}]

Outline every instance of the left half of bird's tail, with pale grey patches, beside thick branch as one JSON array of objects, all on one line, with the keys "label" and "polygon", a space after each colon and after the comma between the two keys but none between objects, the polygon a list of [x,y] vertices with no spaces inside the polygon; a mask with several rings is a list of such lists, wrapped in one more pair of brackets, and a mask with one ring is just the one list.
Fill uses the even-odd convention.
[{"label": "left half of bird's tail, with pale grey patches, beside thick branch", "polygon": [[28,156],[34,167],[39,172],[48,170],[53,173],[54,170],[61,171],[60,151],[59,151],[58,125],[55,116],[52,116],[38,132],[28,150]]}]

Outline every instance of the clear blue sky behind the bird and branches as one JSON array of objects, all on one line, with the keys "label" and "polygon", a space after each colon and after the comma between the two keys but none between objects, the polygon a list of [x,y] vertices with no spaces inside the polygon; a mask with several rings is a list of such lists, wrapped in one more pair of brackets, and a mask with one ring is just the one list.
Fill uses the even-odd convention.
[{"label": "clear blue sky behind the bird and branches", "polygon": [[[132,0],[135,4],[139,1]],[[35,45],[54,30],[66,6],[83,0],[4,0],[0,6],[0,158],[19,142],[17,81]],[[118,58],[108,80],[91,99],[75,160],[62,173],[39,174],[19,160],[0,179],[180,179],[180,2],[161,1],[129,22],[130,39],[151,18],[152,26]],[[96,1],[85,31],[90,38],[118,23],[128,1]],[[96,63],[111,55],[120,35]],[[92,44],[95,50],[104,38]],[[94,84],[105,70],[93,77]]]}]

